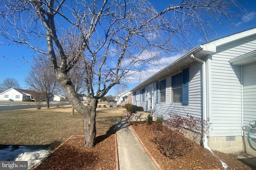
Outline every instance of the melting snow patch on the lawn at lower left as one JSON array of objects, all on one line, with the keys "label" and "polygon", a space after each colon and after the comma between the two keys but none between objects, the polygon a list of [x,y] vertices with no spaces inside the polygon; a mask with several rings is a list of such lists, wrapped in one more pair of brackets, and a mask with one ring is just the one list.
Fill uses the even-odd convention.
[{"label": "melting snow patch on the lawn at lower left", "polygon": [[32,150],[25,146],[19,146],[15,149],[9,146],[6,149],[0,149],[1,161],[28,161],[28,169],[33,168],[36,164],[41,163],[48,156],[50,150],[36,149]]}]

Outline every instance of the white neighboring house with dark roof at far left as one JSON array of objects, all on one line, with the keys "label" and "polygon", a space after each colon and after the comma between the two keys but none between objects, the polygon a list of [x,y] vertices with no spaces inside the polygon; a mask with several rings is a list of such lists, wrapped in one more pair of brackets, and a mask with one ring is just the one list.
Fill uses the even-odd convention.
[{"label": "white neighboring house with dark roof at far left", "polygon": [[0,93],[0,100],[23,101],[24,98],[30,98],[31,100],[33,100],[31,94],[33,94],[32,90],[10,88]]}]

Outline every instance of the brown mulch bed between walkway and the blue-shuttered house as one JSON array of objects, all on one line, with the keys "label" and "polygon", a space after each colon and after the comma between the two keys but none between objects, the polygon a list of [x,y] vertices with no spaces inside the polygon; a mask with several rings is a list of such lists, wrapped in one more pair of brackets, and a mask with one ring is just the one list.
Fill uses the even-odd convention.
[{"label": "brown mulch bed between walkway and the blue-shuttered house", "polygon": [[146,146],[147,150],[152,154],[153,158],[160,165],[163,170],[204,170],[204,169],[220,169],[222,164],[216,158],[228,165],[228,170],[251,170],[251,168],[239,160],[232,154],[224,154],[222,152],[214,151],[216,156],[212,153],[197,145],[191,152],[178,160],[170,160],[158,150],[158,146],[154,143],[154,133],[152,127],[156,125],[148,125],[147,122],[130,122],[134,131]]}]

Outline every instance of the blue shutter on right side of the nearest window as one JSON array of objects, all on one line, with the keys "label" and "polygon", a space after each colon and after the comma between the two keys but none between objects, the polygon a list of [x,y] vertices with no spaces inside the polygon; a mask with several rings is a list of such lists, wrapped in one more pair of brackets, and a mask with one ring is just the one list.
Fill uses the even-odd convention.
[{"label": "blue shutter on right side of the nearest window", "polygon": [[188,104],[188,86],[189,82],[189,69],[185,68],[182,70],[182,104]]}]

